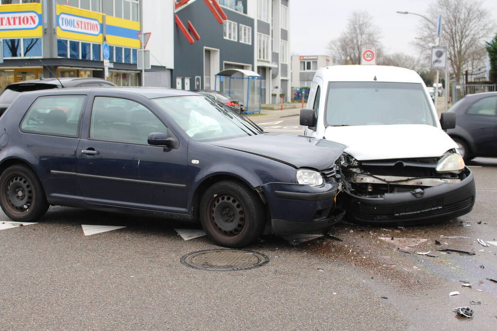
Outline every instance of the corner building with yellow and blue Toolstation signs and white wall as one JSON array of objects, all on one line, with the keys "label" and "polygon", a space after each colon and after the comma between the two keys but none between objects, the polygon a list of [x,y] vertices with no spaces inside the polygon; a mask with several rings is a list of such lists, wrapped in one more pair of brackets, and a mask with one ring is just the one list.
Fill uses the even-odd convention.
[{"label": "corner building with yellow and blue Toolstation signs and white wall", "polygon": [[[102,45],[110,47],[109,74],[121,86],[141,84],[137,33],[152,32],[148,86],[170,87],[173,0],[1,0],[0,89],[42,77],[104,77]],[[159,2],[159,1],[158,1]],[[169,13],[164,15],[164,13]],[[147,19],[144,20],[143,17]],[[154,34],[157,39],[154,40]]]}]

